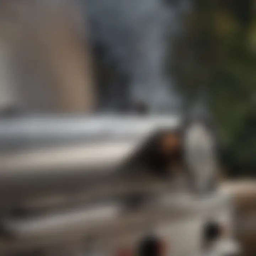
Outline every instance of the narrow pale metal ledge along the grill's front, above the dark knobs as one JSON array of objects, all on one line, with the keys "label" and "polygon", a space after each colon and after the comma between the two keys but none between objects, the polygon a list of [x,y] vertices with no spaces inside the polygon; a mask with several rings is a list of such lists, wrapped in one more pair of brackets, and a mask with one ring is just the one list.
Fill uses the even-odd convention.
[{"label": "narrow pale metal ledge along the grill's front, above the dark knobs", "polygon": [[103,226],[104,229],[108,227],[114,230],[127,226],[129,222],[135,221],[136,225],[139,225],[139,221],[142,222],[145,218],[150,222],[155,215],[165,218],[168,216],[169,219],[175,220],[199,217],[208,211],[209,216],[214,216],[216,212],[222,212],[226,207],[227,198],[223,196],[219,194],[208,197],[207,200],[198,200],[189,194],[176,197],[169,193],[164,196],[155,196],[146,201],[140,209],[133,211],[127,210],[124,203],[110,201],[61,212],[44,213],[30,218],[9,218],[5,219],[4,223],[5,230],[19,238],[74,230],[81,226],[90,227],[91,232]]}]

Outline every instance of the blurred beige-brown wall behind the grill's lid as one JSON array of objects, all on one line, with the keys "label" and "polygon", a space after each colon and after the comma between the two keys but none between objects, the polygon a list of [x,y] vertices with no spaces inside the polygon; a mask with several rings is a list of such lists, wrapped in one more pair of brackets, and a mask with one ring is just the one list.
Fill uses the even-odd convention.
[{"label": "blurred beige-brown wall behind the grill's lid", "polygon": [[6,68],[12,79],[0,82],[0,107],[15,100],[28,112],[91,112],[90,50],[76,20],[81,13],[31,2],[0,2],[0,53],[7,45],[12,63]]}]

